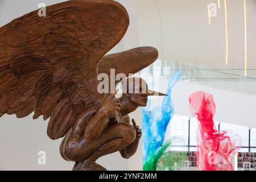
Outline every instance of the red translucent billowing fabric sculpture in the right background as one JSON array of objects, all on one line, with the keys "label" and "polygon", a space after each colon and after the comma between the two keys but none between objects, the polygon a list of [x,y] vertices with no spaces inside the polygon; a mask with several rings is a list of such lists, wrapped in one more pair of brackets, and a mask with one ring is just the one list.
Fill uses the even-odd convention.
[{"label": "red translucent billowing fabric sculpture in the right background", "polygon": [[241,137],[231,131],[218,131],[213,115],[213,96],[196,92],[189,96],[189,109],[199,121],[197,132],[197,167],[200,171],[233,171],[233,157],[241,148]]}]

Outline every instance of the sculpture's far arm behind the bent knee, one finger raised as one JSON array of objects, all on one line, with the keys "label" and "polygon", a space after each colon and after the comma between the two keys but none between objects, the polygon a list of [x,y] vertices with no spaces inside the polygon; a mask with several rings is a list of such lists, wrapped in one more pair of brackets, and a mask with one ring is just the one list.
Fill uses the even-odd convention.
[{"label": "sculpture's far arm behind the bent knee, one finger raised", "polygon": [[[130,123],[130,118],[126,117],[125,119],[123,119],[122,122]],[[139,129],[139,126],[136,125],[134,119],[132,119],[132,122],[136,130],[136,138],[133,143],[129,144],[129,146],[119,151],[121,156],[125,159],[129,159],[131,156],[135,154],[139,146],[139,140],[141,139],[142,136],[142,131],[141,129]]]}]

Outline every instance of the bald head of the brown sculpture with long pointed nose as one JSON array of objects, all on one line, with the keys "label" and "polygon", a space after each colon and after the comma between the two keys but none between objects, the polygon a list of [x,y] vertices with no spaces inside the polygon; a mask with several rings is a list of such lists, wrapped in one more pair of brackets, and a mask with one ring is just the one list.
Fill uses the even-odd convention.
[{"label": "bald head of the brown sculpture with long pointed nose", "polygon": [[146,106],[148,96],[166,96],[166,94],[148,89],[148,85],[143,78],[129,77],[122,82],[123,97],[137,106]]}]

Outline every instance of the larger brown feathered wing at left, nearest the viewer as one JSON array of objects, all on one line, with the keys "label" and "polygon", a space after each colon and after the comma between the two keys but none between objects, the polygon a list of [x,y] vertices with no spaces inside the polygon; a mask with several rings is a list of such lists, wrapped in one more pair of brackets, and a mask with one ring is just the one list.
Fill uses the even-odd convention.
[{"label": "larger brown feathered wing at left, nearest the viewer", "polygon": [[67,1],[46,13],[0,28],[0,116],[51,117],[47,134],[57,139],[100,101],[96,66],[125,34],[129,16],[108,0]]}]

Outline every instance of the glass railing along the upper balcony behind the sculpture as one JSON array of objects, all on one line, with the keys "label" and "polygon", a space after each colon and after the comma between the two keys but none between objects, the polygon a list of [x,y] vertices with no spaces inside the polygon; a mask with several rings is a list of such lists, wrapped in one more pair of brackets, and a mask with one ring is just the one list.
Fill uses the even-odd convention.
[{"label": "glass railing along the upper balcony behind the sculpture", "polygon": [[157,60],[142,72],[169,78],[182,71],[181,81],[193,82],[214,88],[256,95],[256,69],[209,68],[180,61]]}]

